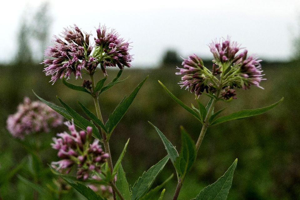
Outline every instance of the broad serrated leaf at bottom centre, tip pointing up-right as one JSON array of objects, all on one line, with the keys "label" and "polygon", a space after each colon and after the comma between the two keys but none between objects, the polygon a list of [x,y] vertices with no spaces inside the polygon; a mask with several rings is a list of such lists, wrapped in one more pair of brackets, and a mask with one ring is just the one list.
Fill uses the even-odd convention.
[{"label": "broad serrated leaf at bottom centre, tip pointing up-right", "polygon": [[156,165],[148,169],[147,172],[143,173],[142,177],[140,177],[138,181],[134,183],[133,187],[130,188],[132,193],[131,200],[137,200],[143,197],[148,192],[155,178],[163,170],[163,167],[166,165],[168,160],[169,156],[166,156]]}]

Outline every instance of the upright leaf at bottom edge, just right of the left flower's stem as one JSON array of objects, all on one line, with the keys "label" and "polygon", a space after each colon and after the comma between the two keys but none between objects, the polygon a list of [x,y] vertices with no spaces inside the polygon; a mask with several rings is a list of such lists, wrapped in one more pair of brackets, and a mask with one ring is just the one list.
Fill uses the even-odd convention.
[{"label": "upright leaf at bottom edge, just right of the left flower's stem", "polygon": [[[122,164],[120,164],[120,166],[118,167],[116,187],[121,192],[122,196],[124,197],[124,200],[131,199],[128,182],[126,180]],[[116,195],[116,198],[117,200],[121,200],[118,195]]]}]

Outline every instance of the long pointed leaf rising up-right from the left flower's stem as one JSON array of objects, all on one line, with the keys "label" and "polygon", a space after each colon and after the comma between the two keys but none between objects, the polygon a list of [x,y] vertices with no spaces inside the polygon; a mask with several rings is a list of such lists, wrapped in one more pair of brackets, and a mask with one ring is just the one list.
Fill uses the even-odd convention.
[{"label": "long pointed leaf rising up-right from the left flower's stem", "polygon": [[[120,120],[123,118],[125,113],[127,112],[129,106],[133,102],[133,99],[138,94],[138,91],[142,87],[142,85],[147,80],[148,76],[140,83],[138,86],[133,90],[133,92],[126,98],[116,109],[113,111],[112,114],[109,115],[109,136],[112,134],[113,129],[117,126]],[[108,136],[108,138],[109,138]]]}]

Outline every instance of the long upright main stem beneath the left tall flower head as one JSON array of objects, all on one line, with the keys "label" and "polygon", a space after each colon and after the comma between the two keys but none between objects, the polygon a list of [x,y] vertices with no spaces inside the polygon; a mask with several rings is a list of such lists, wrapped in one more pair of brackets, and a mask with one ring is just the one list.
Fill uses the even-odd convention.
[{"label": "long upright main stem beneath the left tall flower head", "polygon": [[[93,88],[93,91],[94,91],[94,89],[95,89],[94,75],[90,74],[90,77],[91,77],[91,80],[92,80],[92,88]],[[95,103],[97,117],[103,123],[103,118],[102,118],[102,115],[101,115],[100,105],[99,105],[99,100],[98,100],[98,92],[94,94],[93,99],[94,99],[94,103]],[[105,153],[108,153],[108,158],[107,158],[108,168],[110,169],[111,173],[113,173],[113,162],[112,162],[112,156],[110,154],[109,143],[108,143],[108,140],[106,138],[106,133],[102,128],[101,128],[101,133],[102,133],[103,146],[104,146]],[[113,190],[113,199],[116,200],[116,193],[115,193],[114,190]]]}]

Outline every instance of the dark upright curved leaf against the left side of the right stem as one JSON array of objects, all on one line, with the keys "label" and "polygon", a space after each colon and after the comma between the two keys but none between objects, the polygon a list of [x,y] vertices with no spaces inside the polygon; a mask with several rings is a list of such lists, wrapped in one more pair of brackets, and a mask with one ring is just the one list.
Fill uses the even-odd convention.
[{"label": "dark upright curved leaf against the left side of the right stem", "polygon": [[195,143],[192,138],[187,134],[186,130],[181,126],[181,149],[179,157],[176,158],[174,166],[180,179],[184,179],[187,172],[192,168],[193,163],[196,160],[197,152]]}]

